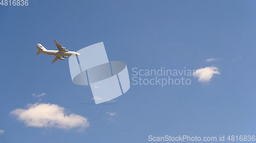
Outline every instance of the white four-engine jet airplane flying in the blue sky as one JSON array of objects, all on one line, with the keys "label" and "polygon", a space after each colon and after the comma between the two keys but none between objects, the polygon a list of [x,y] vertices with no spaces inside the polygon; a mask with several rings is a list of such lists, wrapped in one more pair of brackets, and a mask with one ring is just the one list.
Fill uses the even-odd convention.
[{"label": "white four-engine jet airplane flying in the blue sky", "polygon": [[62,47],[57,41],[54,41],[58,50],[48,50],[41,44],[37,44],[37,53],[45,53],[48,55],[56,56],[52,63],[55,63],[57,60],[64,60],[64,58],[68,58],[68,56],[78,56],[80,55],[78,52],[69,51],[65,47]]}]

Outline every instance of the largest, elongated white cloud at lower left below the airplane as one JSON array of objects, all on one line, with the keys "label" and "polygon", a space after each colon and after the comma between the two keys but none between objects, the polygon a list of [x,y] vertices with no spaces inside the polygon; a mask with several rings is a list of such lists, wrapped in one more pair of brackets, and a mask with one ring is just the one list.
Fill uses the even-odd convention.
[{"label": "largest, elongated white cloud at lower left below the airplane", "polygon": [[71,113],[67,115],[65,108],[56,104],[35,103],[28,104],[27,109],[15,109],[12,115],[24,122],[29,127],[56,127],[60,129],[71,129],[76,127],[85,128],[89,126],[87,118]]}]

